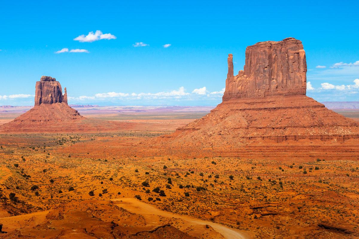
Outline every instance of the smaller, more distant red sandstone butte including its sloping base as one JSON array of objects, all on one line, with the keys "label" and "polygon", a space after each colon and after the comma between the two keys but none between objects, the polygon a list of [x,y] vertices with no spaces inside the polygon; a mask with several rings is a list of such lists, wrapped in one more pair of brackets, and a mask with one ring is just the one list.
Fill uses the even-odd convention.
[{"label": "smaller, more distant red sandstone butte including its sloping base", "polygon": [[35,86],[35,105],[9,123],[0,125],[0,133],[75,133],[111,132],[131,129],[131,123],[87,119],[67,104],[59,81],[42,76]]}]

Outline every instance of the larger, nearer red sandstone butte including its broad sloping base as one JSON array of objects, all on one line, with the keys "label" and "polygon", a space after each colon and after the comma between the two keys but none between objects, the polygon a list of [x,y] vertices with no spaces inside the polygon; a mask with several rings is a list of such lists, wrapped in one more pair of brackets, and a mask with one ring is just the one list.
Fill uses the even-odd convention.
[{"label": "larger, nearer red sandstone butte including its broad sloping base", "polygon": [[[244,145],[262,149],[265,145],[283,146],[267,148],[274,151],[293,151],[287,145],[295,145],[294,150],[302,147],[302,152],[308,152],[311,148],[307,146],[319,142],[322,153],[327,150],[324,144],[338,152],[336,145],[344,147],[343,151],[348,150],[345,146],[349,150],[358,146],[358,122],[306,96],[306,54],[300,40],[286,38],[248,46],[245,64],[234,76],[233,56],[229,54],[222,103],[201,119],[154,139],[159,148],[208,149],[230,156],[228,152]],[[150,143],[155,144],[153,141]],[[359,157],[358,150],[354,154]]]}]

